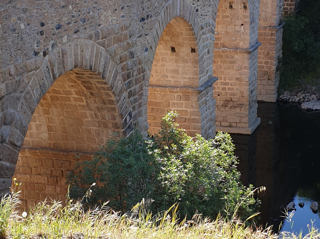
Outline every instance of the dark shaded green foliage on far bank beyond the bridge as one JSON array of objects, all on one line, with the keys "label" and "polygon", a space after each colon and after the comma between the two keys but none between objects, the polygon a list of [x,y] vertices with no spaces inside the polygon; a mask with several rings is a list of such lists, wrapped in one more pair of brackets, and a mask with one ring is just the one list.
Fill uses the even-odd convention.
[{"label": "dark shaded green foliage on far bank beyond the bridge", "polygon": [[300,1],[300,12],[285,17],[280,88],[299,85],[298,79],[315,84],[320,76],[320,6],[317,0]]}]

